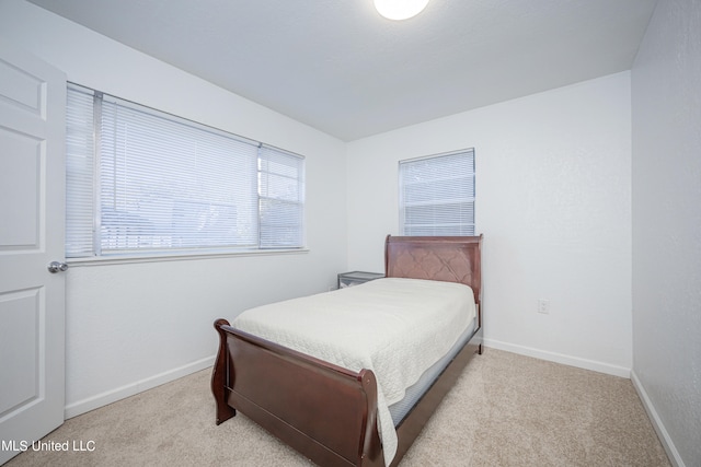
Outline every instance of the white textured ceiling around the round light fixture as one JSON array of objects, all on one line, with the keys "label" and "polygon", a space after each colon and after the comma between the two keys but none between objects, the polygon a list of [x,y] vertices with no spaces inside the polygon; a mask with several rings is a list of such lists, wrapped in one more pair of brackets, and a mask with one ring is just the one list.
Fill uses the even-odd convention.
[{"label": "white textured ceiling around the round light fixture", "polygon": [[656,0],[30,0],[349,141],[628,70]]}]

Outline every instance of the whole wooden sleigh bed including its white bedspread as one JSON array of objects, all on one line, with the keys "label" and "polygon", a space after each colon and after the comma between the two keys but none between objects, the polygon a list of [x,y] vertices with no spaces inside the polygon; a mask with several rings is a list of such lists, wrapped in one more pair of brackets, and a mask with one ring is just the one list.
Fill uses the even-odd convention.
[{"label": "whole wooden sleigh bed including its white bedspread", "polygon": [[[388,235],[384,244],[387,279],[246,311],[232,324],[226,319],[217,319],[215,328],[220,339],[211,377],[217,424],[235,416],[237,410],[240,410],[318,465],[398,465],[464,366],[475,354],[482,353],[481,245],[482,236]],[[390,288],[392,292],[387,292],[386,288]],[[424,288],[428,292],[426,299],[421,295],[423,292],[418,291]],[[412,290],[417,290],[417,299],[413,297]],[[372,351],[368,352],[371,353],[370,360],[365,360],[366,353],[361,352],[363,358],[356,360],[355,354],[352,359],[343,353],[346,347],[355,347],[352,340],[363,342],[359,347],[364,348],[366,341],[375,342],[372,336],[380,334],[375,331],[375,325],[368,325],[369,320],[366,320],[368,313],[375,313],[374,297],[397,297],[395,306],[382,304],[382,310],[389,311],[394,307],[401,313],[410,314],[413,313],[410,308],[414,304],[426,310],[433,307],[433,302],[428,306],[426,303],[429,302],[422,300],[435,299],[437,303],[451,301],[452,294],[458,296],[466,291],[470,295],[474,317],[466,319],[468,323],[459,329],[455,325],[456,322],[448,319],[464,318],[453,318],[452,315],[446,318],[446,329],[456,328],[452,331],[455,336],[438,339],[448,342],[449,349],[436,350],[441,352],[443,357],[435,362],[430,360],[433,363],[428,369],[424,370],[418,364],[412,365],[411,363],[418,359],[404,355],[403,349],[402,352],[389,353],[399,355],[397,359],[409,359],[398,360],[398,364],[403,369],[417,366],[416,370],[400,372],[402,377],[403,373],[421,372],[417,381],[414,381],[415,375],[406,376],[409,381],[397,384],[401,389],[399,395],[392,392],[393,383],[388,380],[387,373],[392,372],[384,370],[386,357],[380,357],[379,353],[376,355]],[[410,297],[409,302],[414,303],[409,303],[406,299],[402,303],[400,299],[404,295]],[[335,330],[330,327],[326,332],[321,332],[334,342],[334,347],[326,351],[318,351],[317,348],[307,347],[307,343],[298,345],[297,336],[287,338],[291,331],[285,323],[278,326],[283,328],[283,334],[279,335],[269,332],[279,332],[280,329],[256,324],[255,320],[261,320],[261,316],[268,314],[268,319],[285,322],[285,315],[279,313],[287,313],[292,308],[304,313],[306,308],[323,308],[326,303],[332,304],[342,299],[343,306],[366,315],[359,314],[357,323],[348,323],[347,332],[345,327],[338,329],[337,326]],[[448,310],[440,306],[437,306],[439,311],[432,313],[444,313],[441,310]],[[298,316],[290,313],[287,315]],[[384,316],[381,313],[378,315]],[[318,316],[323,318],[323,314]],[[440,316],[435,315],[432,320],[443,320],[437,319]],[[304,319],[300,318],[299,322]],[[388,319],[397,319],[397,315]],[[250,325],[249,320],[253,325]],[[294,320],[287,323],[295,327]],[[308,326],[297,327],[301,329]],[[402,336],[406,335],[413,337],[416,328],[410,329],[413,330],[397,332],[397,339],[401,340]],[[354,337],[345,338],[347,336]],[[321,347],[325,346],[321,337],[320,342]],[[387,346],[375,346],[374,349],[384,347]],[[422,347],[424,348],[429,349]],[[422,353],[429,352],[433,350],[422,350]],[[376,371],[377,369],[380,370]],[[395,400],[398,397],[401,399]]]}]

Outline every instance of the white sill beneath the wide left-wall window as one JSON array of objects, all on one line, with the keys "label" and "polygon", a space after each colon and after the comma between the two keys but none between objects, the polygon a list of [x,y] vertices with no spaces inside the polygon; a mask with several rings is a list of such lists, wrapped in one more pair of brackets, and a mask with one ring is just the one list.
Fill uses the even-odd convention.
[{"label": "white sill beneath the wide left-wall window", "polygon": [[90,258],[68,258],[66,262],[70,267],[82,266],[105,266],[105,265],[128,265],[138,262],[163,262],[163,261],[185,261],[193,259],[220,259],[242,256],[277,256],[277,255],[301,255],[309,253],[309,248],[294,249],[250,249],[240,252],[208,252],[208,253],[143,253],[131,255],[100,256]]}]

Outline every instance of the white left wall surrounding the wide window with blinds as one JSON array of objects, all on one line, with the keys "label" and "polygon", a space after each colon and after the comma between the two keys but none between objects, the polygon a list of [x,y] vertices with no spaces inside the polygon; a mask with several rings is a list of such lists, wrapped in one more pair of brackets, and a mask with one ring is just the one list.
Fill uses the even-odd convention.
[{"label": "white left wall surrounding the wide window with blinds", "polygon": [[309,253],[69,269],[68,416],[207,366],[217,317],[335,283],[346,267],[342,141],[22,0],[0,1],[0,36],[70,81],[307,157]]}]

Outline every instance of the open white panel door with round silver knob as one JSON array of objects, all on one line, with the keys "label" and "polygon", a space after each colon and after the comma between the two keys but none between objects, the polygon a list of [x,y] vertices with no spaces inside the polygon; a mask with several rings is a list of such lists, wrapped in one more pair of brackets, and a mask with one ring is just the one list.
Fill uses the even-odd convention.
[{"label": "open white panel door with round silver knob", "polygon": [[64,422],[66,77],[0,42],[0,464]]}]

